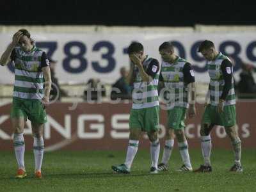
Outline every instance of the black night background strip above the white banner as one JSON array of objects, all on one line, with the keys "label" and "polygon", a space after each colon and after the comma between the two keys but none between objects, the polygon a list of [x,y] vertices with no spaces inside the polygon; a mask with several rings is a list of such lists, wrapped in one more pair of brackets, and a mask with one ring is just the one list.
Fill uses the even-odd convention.
[{"label": "black night background strip above the white banner", "polygon": [[253,1],[0,1],[4,25],[255,25]]}]

